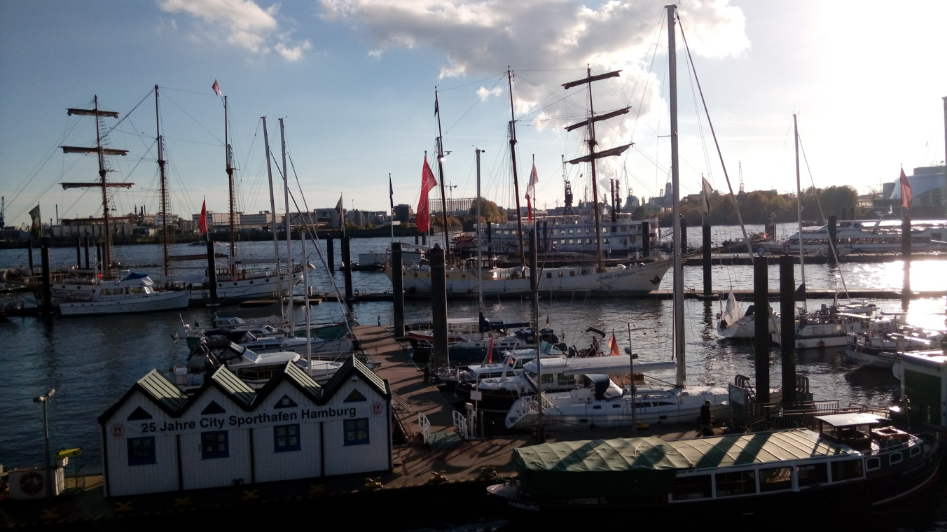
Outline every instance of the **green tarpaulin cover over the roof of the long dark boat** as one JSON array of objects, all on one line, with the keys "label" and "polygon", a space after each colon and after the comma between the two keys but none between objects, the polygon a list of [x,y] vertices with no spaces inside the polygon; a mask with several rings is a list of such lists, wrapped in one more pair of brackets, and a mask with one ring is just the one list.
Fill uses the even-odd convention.
[{"label": "green tarpaulin cover over the roof of the long dark boat", "polygon": [[657,437],[563,441],[513,451],[520,482],[537,497],[652,496],[678,470],[714,470],[854,453],[805,429],[664,441]]}]

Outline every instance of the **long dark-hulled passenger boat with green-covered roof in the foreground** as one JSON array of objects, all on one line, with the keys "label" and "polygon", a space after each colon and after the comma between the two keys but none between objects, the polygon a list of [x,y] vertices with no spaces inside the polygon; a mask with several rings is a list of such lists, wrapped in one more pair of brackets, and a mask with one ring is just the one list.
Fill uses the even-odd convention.
[{"label": "long dark-hulled passenger boat with green-covered roof in the foreground", "polygon": [[900,500],[937,478],[938,434],[918,437],[884,427],[884,417],[867,413],[815,420],[817,431],[534,445],[513,451],[519,479],[487,492],[513,516],[559,522],[641,510],[646,513],[634,515],[649,515],[675,506],[743,516],[779,515],[793,507],[866,509]]}]

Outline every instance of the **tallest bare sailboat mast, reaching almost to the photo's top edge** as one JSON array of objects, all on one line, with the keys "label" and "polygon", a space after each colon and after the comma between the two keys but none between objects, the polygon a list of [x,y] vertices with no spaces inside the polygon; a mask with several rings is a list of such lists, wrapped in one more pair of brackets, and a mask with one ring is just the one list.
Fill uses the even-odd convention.
[{"label": "tallest bare sailboat mast, reaching almost to the photo's top edge", "polygon": [[681,186],[680,168],[678,164],[678,135],[677,135],[677,47],[674,42],[674,16],[677,6],[669,4],[668,8],[668,69],[670,70],[668,86],[670,95],[670,186],[673,208],[671,218],[674,222],[674,348],[673,357],[677,365],[675,385],[684,388],[687,385],[688,370],[684,349],[684,239],[681,235]]}]

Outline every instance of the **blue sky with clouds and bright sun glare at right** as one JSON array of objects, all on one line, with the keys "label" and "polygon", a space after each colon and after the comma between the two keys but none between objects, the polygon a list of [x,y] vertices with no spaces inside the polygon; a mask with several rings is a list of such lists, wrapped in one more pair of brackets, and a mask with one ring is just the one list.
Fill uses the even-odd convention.
[{"label": "blue sky with clouds and bright sun glare at right", "polygon": [[[677,32],[681,189],[701,176],[715,189],[795,190],[793,115],[804,151],[802,185],[854,186],[860,193],[943,164],[947,3],[832,0],[688,0]],[[685,47],[683,37],[687,40]],[[690,66],[692,60],[693,67]],[[118,0],[0,2],[0,195],[8,224],[101,216],[96,189],[62,182],[98,179],[88,116],[103,118],[119,214],[160,208],[154,85],[169,161],[171,212],[189,217],[228,208],[226,141],[233,147],[237,206],[270,210],[260,116],[267,116],[272,171],[281,179],[284,119],[290,210],[387,210],[417,206],[425,151],[436,167],[439,127],[447,195],[514,203],[509,155],[513,76],[521,202],[533,164],[535,204],[563,204],[563,177],[576,198],[591,194],[585,85],[563,83],[621,70],[593,85],[599,149],[629,142],[599,163],[599,195],[616,180],[651,198],[670,182],[667,16],[664,2],[615,0]],[[696,90],[700,81],[721,154]],[[435,115],[438,91],[439,116]],[[721,164],[721,157],[724,165]],[[725,168],[725,172],[724,172]],[[435,172],[437,172],[435,168]],[[438,178],[439,179],[439,178]],[[283,204],[277,183],[277,205]],[[432,199],[435,192],[431,193]],[[298,205],[298,208],[297,208]],[[277,212],[283,212],[277,206]]]}]

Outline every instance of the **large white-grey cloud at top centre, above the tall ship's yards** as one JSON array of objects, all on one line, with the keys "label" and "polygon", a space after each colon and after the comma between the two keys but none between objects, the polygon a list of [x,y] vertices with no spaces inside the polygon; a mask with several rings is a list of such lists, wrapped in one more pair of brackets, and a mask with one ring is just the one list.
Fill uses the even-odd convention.
[{"label": "large white-grey cloud at top centre, above the tall ship's yards", "polygon": [[[721,58],[748,48],[745,18],[728,1],[691,0],[681,7],[694,55]],[[655,104],[662,106],[663,75],[649,71],[646,62],[655,42],[666,49],[667,15],[651,0],[606,0],[593,7],[578,0],[320,0],[319,6],[327,22],[348,23],[360,33],[373,57],[382,59],[392,48],[443,54],[442,79],[494,74],[507,65],[514,72],[525,69],[516,73],[527,81],[516,84],[517,110],[532,110],[530,119],[563,117],[549,125],[581,120],[584,87],[563,91],[560,85],[583,78],[586,65],[593,74],[622,70],[620,79],[596,86],[597,109],[631,105],[633,113],[649,115],[660,111]],[[485,91],[478,95],[491,96]],[[550,92],[558,98],[546,99]],[[543,102],[563,97],[544,107]],[[637,122],[626,118],[603,125],[599,139],[627,141]]]}]

